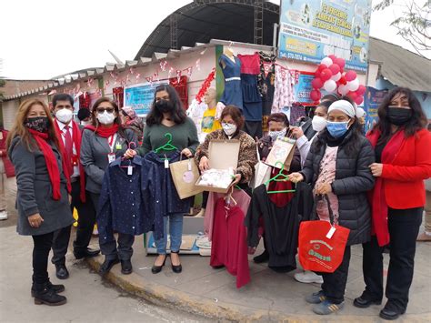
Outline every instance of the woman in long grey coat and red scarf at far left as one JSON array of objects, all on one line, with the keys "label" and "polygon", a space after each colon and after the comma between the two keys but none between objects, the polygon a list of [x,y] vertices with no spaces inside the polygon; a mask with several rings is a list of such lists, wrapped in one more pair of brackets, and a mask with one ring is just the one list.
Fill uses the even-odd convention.
[{"label": "woman in long grey coat and red scarf at far left", "polygon": [[64,152],[45,103],[30,99],[19,106],[6,146],[15,166],[17,232],[34,242],[32,296],[35,304],[65,304],[66,298],[57,294],[65,286],[49,280],[48,255],[55,231],[70,226],[74,218]]}]

